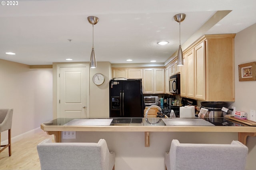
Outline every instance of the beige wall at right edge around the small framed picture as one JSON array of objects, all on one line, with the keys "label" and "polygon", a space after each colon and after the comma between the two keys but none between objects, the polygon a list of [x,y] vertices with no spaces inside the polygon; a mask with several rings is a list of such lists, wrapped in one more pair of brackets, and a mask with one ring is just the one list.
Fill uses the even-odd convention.
[{"label": "beige wall at right edge around the small framed picture", "polygon": [[[236,110],[256,110],[256,81],[239,82],[238,65],[256,61],[256,24],[238,32],[235,37],[235,97]],[[256,137],[248,137],[247,168],[255,169]]]}]

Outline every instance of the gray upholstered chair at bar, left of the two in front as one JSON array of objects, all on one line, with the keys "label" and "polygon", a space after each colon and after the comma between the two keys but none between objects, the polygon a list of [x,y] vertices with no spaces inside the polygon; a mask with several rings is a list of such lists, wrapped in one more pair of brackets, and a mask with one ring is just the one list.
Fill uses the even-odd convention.
[{"label": "gray upholstered chair at bar, left of the two in front", "polygon": [[109,152],[106,140],[98,143],[52,143],[37,146],[41,170],[114,170],[115,152]]}]

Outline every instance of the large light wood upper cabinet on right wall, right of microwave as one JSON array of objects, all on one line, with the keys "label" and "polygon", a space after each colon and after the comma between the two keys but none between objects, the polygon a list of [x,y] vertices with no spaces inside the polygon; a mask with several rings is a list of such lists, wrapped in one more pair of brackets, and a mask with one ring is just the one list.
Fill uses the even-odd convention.
[{"label": "large light wood upper cabinet on right wall, right of microwave", "polygon": [[204,35],[184,50],[181,96],[206,101],[235,100],[235,35]]}]

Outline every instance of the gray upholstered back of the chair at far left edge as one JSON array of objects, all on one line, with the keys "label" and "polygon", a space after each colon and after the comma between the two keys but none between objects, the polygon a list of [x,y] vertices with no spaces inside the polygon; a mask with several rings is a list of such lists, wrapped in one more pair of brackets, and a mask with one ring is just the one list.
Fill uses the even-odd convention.
[{"label": "gray upholstered back of the chair at far left edge", "polygon": [[13,109],[0,109],[0,132],[12,128]]}]

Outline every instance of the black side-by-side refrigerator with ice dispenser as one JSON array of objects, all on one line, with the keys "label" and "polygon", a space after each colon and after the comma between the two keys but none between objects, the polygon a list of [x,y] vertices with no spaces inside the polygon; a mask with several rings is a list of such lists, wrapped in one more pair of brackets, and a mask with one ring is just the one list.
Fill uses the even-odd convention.
[{"label": "black side-by-side refrigerator with ice dispenser", "polygon": [[144,98],[142,80],[110,80],[110,118],[142,118]]}]

